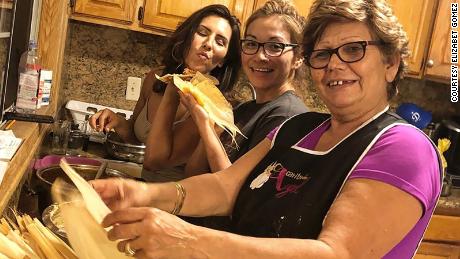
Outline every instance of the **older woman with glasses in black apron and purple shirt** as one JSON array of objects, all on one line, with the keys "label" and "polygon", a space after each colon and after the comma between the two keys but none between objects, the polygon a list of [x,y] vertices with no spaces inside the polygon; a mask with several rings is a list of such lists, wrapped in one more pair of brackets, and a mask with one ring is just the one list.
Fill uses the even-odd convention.
[{"label": "older woman with glasses in black apron and purple shirt", "polygon": [[[388,111],[406,66],[401,25],[384,0],[317,0],[303,48],[330,114],[293,117],[214,174],[162,185],[95,182],[118,209],[103,225],[114,226],[109,238],[124,240],[120,249],[129,244],[140,258],[414,255],[442,169],[429,138]],[[233,233],[167,211],[231,214]]]}]

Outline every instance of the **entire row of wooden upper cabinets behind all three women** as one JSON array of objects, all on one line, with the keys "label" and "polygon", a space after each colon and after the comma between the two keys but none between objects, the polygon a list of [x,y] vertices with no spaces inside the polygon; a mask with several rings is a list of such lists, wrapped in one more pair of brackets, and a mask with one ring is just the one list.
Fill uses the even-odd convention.
[{"label": "entire row of wooden upper cabinets behind all three women", "polygon": [[[71,18],[166,35],[194,11],[223,4],[244,21],[267,0],[74,0]],[[409,76],[448,79],[450,3],[458,0],[387,0],[408,34]],[[313,0],[293,0],[307,16]],[[434,26],[434,29],[433,29]],[[430,45],[431,43],[431,45]],[[429,49],[429,53],[428,53]]]}]

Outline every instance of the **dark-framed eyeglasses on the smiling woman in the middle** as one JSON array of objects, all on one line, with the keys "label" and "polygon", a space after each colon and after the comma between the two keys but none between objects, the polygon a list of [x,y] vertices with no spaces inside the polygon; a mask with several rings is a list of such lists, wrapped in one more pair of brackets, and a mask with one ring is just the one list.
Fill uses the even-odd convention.
[{"label": "dark-framed eyeglasses on the smiling woman in the middle", "polygon": [[241,40],[241,50],[244,54],[254,55],[262,46],[264,53],[270,57],[279,57],[283,54],[287,47],[296,48],[297,44],[281,43],[281,42],[257,42],[255,40]]}]

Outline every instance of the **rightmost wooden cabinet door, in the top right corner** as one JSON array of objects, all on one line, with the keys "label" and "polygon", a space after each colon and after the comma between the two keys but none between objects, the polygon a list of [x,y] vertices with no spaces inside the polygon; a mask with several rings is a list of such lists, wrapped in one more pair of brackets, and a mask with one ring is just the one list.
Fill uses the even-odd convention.
[{"label": "rightmost wooden cabinet door, in the top right corner", "polygon": [[457,0],[441,0],[431,38],[425,74],[439,79],[450,78],[450,3]]}]

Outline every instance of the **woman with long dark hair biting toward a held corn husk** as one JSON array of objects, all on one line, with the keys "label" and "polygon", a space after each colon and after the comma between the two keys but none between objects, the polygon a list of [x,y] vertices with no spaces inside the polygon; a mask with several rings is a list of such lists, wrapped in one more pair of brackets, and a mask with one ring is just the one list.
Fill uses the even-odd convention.
[{"label": "woman with long dark hair biting toward a held corn husk", "polygon": [[[218,87],[225,94],[232,89],[240,68],[239,41],[239,22],[227,7],[210,5],[196,11],[172,34],[164,52],[163,70],[152,70],[145,78],[133,116],[126,120],[105,109],[90,118],[91,127],[106,132],[113,129],[128,143],[145,143],[143,176],[154,175],[148,172],[154,169],[150,157],[162,145],[160,141],[174,142],[193,151],[200,139],[186,107],[179,102],[176,88],[156,80],[155,74],[181,74],[185,68],[199,71],[217,78]],[[152,124],[156,132],[150,132]],[[156,137],[158,134],[160,137]],[[176,161],[185,162],[190,155],[181,153]],[[180,171],[175,170],[155,176],[160,178],[152,180],[182,178]]]}]

